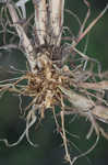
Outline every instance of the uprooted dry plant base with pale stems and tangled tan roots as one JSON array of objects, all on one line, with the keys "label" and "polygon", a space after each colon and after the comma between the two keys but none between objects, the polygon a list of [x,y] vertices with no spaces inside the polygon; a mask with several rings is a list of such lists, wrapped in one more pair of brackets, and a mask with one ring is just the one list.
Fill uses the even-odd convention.
[{"label": "uprooted dry plant base with pale stems and tangled tan roots", "polygon": [[[26,136],[31,145],[37,146],[29,139],[29,129],[35,123],[37,124],[37,118],[43,120],[46,118],[45,112],[50,110],[57,131],[62,138],[64,158],[72,165],[79,157],[88,154],[96,146],[100,134],[108,139],[108,133],[98,124],[98,121],[108,123],[108,102],[104,98],[105,90],[108,89],[108,73],[101,73],[97,59],[77,50],[79,43],[105,14],[108,6],[85,28],[91,14],[91,6],[87,0],[84,0],[87,13],[83,23],[80,23],[77,36],[73,37],[63,35],[65,33],[63,26],[64,0],[31,0],[34,11],[28,19],[25,8],[27,1],[20,0],[16,3],[12,0],[2,1],[0,35],[3,36],[3,45],[0,46],[0,50],[20,50],[26,56],[27,67],[21,77],[0,81],[0,92],[15,92],[19,97],[27,96],[32,101],[24,109],[23,117],[26,119],[26,128],[17,142],[10,144],[5,139],[0,141],[10,147],[19,144]],[[10,44],[5,42],[7,34],[12,35]],[[17,41],[17,43],[12,41]],[[96,65],[97,73],[94,72]],[[58,113],[56,106],[60,107]],[[91,122],[86,139],[92,136],[93,131],[97,139],[88,151],[71,158],[65,116],[73,114],[83,116]],[[61,118],[61,123],[58,117]]]}]

